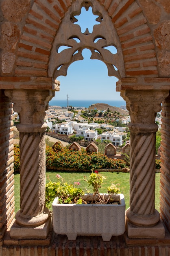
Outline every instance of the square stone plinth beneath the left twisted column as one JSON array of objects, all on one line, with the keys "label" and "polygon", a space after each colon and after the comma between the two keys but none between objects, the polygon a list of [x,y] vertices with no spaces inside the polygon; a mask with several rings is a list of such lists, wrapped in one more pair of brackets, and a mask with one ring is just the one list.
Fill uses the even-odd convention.
[{"label": "square stone plinth beneath the left twisted column", "polygon": [[10,230],[10,237],[14,239],[46,239],[51,227],[51,216],[38,227],[21,227],[16,220]]}]

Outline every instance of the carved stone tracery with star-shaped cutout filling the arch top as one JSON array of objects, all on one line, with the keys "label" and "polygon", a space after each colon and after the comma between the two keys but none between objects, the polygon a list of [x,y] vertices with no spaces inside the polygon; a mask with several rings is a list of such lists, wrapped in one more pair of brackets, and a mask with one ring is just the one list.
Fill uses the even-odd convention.
[{"label": "carved stone tracery with star-shaped cutout filling the arch top", "polygon": [[[77,21],[75,16],[81,13],[82,7],[86,10],[92,7],[93,13],[98,15],[96,21],[100,24],[94,25],[92,33],[89,33],[88,29],[82,33],[81,27],[74,24]],[[59,53],[61,46],[67,49]],[[105,49],[108,46],[116,47],[117,53],[112,54]],[[98,59],[107,65],[109,76],[116,76],[118,79],[125,76],[120,40],[111,18],[97,1],[76,1],[76,4],[73,3],[65,13],[51,51],[49,76],[53,76],[54,79],[61,75],[66,76],[71,63],[83,60],[82,51],[85,48],[92,52],[91,59]]]}]

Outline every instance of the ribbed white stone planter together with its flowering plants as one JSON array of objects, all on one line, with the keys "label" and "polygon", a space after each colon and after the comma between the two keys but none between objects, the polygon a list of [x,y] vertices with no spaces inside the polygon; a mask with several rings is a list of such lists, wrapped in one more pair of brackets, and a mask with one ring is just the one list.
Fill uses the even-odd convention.
[{"label": "ribbed white stone planter together with its flowering plants", "polygon": [[99,193],[102,175],[92,172],[85,177],[94,193],[84,193],[79,182],[74,185],[63,182],[57,174],[57,182],[46,184],[46,204],[52,202],[53,228],[57,234],[66,234],[69,240],[80,236],[102,236],[109,241],[125,231],[124,195],[119,193],[119,184],[111,184],[107,194]]}]

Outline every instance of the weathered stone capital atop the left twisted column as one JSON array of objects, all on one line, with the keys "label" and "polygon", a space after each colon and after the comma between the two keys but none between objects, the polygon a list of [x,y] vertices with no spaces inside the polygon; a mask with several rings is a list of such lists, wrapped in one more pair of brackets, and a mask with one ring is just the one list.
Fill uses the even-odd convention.
[{"label": "weathered stone capital atop the left twisted column", "polygon": [[54,90],[5,90],[13,102],[13,109],[20,117],[17,129],[20,132],[43,132],[46,130],[44,117]]}]

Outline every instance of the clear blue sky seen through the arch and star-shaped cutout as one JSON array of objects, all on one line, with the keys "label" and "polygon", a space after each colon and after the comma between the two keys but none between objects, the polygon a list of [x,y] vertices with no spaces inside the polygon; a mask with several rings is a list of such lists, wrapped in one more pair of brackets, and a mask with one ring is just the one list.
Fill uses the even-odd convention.
[{"label": "clear blue sky seen through the arch and star-shaped cutout", "polygon": [[[81,26],[82,33],[86,28],[92,32],[93,26],[99,24],[95,19],[92,8],[86,11],[83,7],[81,15],[75,16],[78,19],[76,24]],[[84,57],[81,61],[75,61],[68,67],[67,76],[58,76],[60,81],[60,91],[55,93],[52,100],[65,100],[67,94],[70,100],[123,100],[120,92],[116,92],[116,81],[118,79],[108,76],[105,63],[99,60],[91,60],[91,51],[83,49]]]}]

